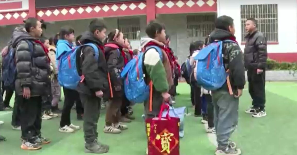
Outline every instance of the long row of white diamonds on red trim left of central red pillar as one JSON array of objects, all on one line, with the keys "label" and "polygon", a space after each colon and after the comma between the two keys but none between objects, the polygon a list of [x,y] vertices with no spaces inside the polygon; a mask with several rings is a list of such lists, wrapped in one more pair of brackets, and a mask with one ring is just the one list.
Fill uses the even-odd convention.
[{"label": "long row of white diamonds on red trim left of central red pillar", "polygon": [[138,5],[135,5],[134,3],[131,4],[113,4],[112,6],[108,6],[108,5],[104,5],[104,6],[89,6],[89,7],[79,7],[78,9],[75,8],[64,8],[64,9],[55,9],[54,11],[50,11],[50,10],[40,10],[37,12],[37,16],[42,17],[42,16],[51,16],[51,15],[59,15],[60,13],[62,15],[66,15],[67,13],[70,13],[71,15],[73,15],[75,12],[78,12],[79,14],[82,14],[83,12],[87,12],[87,13],[91,13],[91,12],[109,12],[109,11],[113,11],[116,12],[117,10],[122,10],[125,11],[127,9],[130,10],[134,10],[135,8],[139,8],[141,10],[143,10],[144,8],[146,8],[146,4],[145,3],[140,3]]}]

